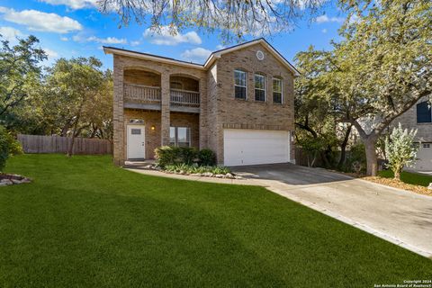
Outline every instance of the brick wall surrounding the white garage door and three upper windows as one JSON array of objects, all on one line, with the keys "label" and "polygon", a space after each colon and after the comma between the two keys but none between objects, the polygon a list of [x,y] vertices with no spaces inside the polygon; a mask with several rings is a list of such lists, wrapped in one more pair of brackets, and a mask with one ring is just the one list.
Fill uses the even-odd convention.
[{"label": "brick wall surrounding the white garage door and three upper windows", "polygon": [[[265,58],[261,61],[256,56],[258,49],[265,54]],[[239,100],[234,97],[234,70],[236,68],[247,72],[247,100]],[[264,103],[255,101],[255,73],[266,76],[266,102]],[[274,76],[284,81],[283,104],[273,103]],[[224,128],[294,130],[293,73],[260,43],[221,56],[217,61],[217,92],[215,94],[217,94],[216,99],[209,101],[216,105],[213,109],[216,110],[218,124],[211,128],[211,134],[215,137],[213,147],[217,148],[219,163],[223,162]],[[293,143],[291,147],[291,159],[294,159]]]}]

